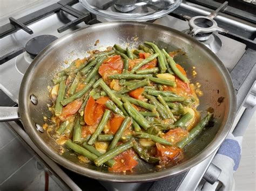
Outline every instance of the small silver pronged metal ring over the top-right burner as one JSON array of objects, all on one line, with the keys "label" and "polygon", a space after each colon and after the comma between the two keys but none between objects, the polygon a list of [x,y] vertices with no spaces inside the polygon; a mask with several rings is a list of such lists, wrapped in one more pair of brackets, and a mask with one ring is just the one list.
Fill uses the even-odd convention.
[{"label": "small silver pronged metal ring over the top-right burner", "polygon": [[199,41],[204,41],[210,39],[212,32],[227,33],[227,30],[218,27],[215,20],[213,20],[213,18],[216,17],[220,11],[226,8],[227,3],[228,2],[223,3],[217,10],[208,16],[184,16],[184,18],[188,20],[188,25],[190,25],[190,29],[186,30],[187,34],[190,34],[190,36]]}]

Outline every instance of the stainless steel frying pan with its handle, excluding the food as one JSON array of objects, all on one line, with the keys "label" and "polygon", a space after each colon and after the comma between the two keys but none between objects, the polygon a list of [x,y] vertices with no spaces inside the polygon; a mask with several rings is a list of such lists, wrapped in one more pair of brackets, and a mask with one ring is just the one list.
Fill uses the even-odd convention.
[{"label": "stainless steel frying pan with its handle, excluding the food", "polygon": [[[99,45],[96,47],[95,41],[98,39]],[[65,60],[83,58],[90,49],[105,48],[115,43],[136,45],[143,41],[154,41],[168,51],[180,48],[186,53],[177,56],[176,61],[185,67],[192,82],[201,83],[204,96],[200,97],[199,110],[203,111],[208,107],[214,109],[214,126],[203,131],[185,148],[184,162],[165,169],[157,169],[140,161],[133,173],[111,173],[107,172],[105,167],[81,164],[77,157],[69,152],[62,155],[60,146],[48,135],[48,132],[43,132],[40,128],[44,124],[43,116],[51,116],[46,104],[51,104],[48,86],[52,85],[52,77],[66,67]],[[192,66],[196,67],[196,77],[190,75]],[[224,97],[222,103],[218,102],[219,97]],[[216,150],[227,136],[235,116],[235,106],[231,77],[223,63],[210,49],[179,31],[156,24],[137,22],[96,24],[59,38],[33,60],[24,75],[19,92],[19,115],[25,131],[46,155],[76,173],[94,179],[118,182],[158,180],[197,165]],[[17,108],[0,109],[0,121],[18,118]]]}]

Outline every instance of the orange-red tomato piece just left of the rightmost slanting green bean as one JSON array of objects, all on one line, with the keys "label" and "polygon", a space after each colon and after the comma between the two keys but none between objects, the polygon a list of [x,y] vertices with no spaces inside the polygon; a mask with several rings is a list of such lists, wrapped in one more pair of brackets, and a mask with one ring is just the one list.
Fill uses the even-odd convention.
[{"label": "orange-red tomato piece just left of the rightmost slanting green bean", "polygon": [[168,140],[169,142],[176,144],[178,143],[181,139],[185,138],[188,136],[188,131],[178,128],[178,129],[172,129],[165,133],[163,136],[164,139]]}]

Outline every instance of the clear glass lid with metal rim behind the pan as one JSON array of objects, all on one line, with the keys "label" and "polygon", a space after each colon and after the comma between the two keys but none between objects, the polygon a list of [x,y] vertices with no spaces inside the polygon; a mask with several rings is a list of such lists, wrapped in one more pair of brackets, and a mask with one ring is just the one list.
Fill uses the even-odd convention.
[{"label": "clear glass lid with metal rim behind the pan", "polygon": [[177,9],[182,0],[79,0],[95,15],[117,19],[146,21],[163,17]]}]

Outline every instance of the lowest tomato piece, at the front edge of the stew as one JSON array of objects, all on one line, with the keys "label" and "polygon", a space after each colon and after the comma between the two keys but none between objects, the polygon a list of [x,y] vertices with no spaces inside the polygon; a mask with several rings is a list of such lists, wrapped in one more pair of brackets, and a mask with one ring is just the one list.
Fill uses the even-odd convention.
[{"label": "lowest tomato piece, at the front edge of the stew", "polygon": [[134,159],[134,156],[135,153],[131,149],[122,152],[114,157],[116,162],[112,167],[109,168],[109,171],[125,172],[131,170],[138,165],[138,161]]}]

